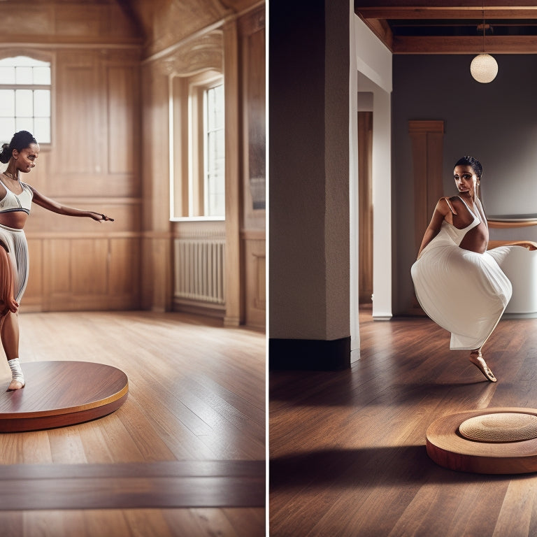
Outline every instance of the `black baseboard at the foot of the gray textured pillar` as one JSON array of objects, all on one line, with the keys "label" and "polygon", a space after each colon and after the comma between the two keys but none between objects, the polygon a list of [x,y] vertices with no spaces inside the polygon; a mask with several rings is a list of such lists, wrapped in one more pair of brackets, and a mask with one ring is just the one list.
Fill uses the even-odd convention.
[{"label": "black baseboard at the foot of the gray textured pillar", "polygon": [[268,368],[272,371],[339,371],[350,367],[350,336],[334,340],[268,340]]}]

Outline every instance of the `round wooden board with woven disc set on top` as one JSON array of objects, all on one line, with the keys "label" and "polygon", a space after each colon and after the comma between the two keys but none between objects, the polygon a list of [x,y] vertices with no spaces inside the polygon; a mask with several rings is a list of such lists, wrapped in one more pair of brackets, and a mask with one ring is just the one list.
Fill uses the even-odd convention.
[{"label": "round wooden board with woven disc set on top", "polygon": [[440,417],[427,429],[427,454],[451,470],[537,472],[537,409],[486,408]]}]

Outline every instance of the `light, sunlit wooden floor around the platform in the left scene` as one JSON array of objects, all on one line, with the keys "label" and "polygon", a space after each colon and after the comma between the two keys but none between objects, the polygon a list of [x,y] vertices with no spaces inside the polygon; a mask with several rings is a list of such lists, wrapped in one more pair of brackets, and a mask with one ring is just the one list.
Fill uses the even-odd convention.
[{"label": "light, sunlit wooden floor around the platform in the left scene", "polygon": [[[0,434],[2,537],[265,534],[265,337],[178,313],[22,313],[29,361],[120,368],[99,420]],[[0,367],[0,386],[10,378]],[[24,388],[26,389],[26,388]]]}]

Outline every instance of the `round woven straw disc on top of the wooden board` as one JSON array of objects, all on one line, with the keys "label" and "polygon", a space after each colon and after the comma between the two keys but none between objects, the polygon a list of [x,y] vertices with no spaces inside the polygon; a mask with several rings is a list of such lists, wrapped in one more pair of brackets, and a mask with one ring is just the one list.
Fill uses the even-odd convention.
[{"label": "round woven straw disc on top of the wooden board", "polygon": [[537,438],[537,416],[496,413],[471,417],[459,425],[459,433],[478,442],[520,442]]}]

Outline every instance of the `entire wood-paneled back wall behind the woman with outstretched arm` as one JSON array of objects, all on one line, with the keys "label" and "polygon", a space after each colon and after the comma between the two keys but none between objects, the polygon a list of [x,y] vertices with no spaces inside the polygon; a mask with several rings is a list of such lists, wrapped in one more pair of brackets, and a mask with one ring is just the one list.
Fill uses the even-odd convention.
[{"label": "entire wood-paneled back wall behind the woman with outstretched arm", "polygon": [[24,54],[50,57],[53,82],[52,143],[27,181],[64,205],[107,213],[115,222],[34,206],[23,310],[138,308],[139,51],[51,47]]}]

